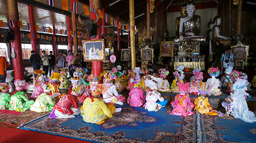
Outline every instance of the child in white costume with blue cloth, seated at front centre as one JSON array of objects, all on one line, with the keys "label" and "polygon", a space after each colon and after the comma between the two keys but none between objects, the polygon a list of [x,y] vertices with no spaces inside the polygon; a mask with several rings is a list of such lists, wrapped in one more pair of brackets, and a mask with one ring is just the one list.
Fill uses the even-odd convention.
[{"label": "child in white costume with blue cloth, seated at front centre", "polygon": [[144,83],[144,86],[147,86],[150,89],[146,92],[146,103],[143,107],[148,111],[158,111],[161,108],[164,108],[168,101],[161,97],[161,94],[157,91],[155,82],[146,79],[144,80]]}]

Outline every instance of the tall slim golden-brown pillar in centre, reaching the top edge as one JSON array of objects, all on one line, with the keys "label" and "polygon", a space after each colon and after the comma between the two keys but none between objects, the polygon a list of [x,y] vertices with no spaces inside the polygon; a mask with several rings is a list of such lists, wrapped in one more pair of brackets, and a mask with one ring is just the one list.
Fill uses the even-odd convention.
[{"label": "tall slim golden-brown pillar in centre, reaching the top edge", "polygon": [[[134,0],[129,0],[129,25],[134,27]],[[135,61],[135,31],[131,28],[131,69],[134,70],[136,66]]]}]

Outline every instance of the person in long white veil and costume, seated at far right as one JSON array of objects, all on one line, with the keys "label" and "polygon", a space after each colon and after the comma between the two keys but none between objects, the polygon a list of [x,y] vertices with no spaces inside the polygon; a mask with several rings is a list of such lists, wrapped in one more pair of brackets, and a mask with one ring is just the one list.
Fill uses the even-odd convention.
[{"label": "person in long white veil and costume, seated at far right", "polygon": [[249,110],[248,105],[246,103],[246,86],[249,84],[246,79],[237,79],[236,83],[232,86],[231,95],[228,96],[225,100],[226,102],[222,102],[222,106],[227,111],[225,116],[231,114],[234,118],[239,118],[245,122],[254,123],[256,121],[256,117],[252,111]]}]

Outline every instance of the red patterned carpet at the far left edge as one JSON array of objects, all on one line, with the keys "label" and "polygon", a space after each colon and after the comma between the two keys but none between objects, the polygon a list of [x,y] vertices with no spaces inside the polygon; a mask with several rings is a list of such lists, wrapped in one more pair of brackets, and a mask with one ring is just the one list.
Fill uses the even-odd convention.
[{"label": "red patterned carpet at the far left edge", "polygon": [[38,117],[44,116],[46,114],[49,114],[49,112],[36,113],[31,110],[26,110],[24,112],[0,110],[0,123],[11,124],[11,125],[22,125],[23,123],[37,119]]}]

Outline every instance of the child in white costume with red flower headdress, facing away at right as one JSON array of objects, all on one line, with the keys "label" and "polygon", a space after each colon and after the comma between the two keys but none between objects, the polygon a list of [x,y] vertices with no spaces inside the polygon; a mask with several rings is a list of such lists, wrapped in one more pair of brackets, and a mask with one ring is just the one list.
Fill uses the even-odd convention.
[{"label": "child in white costume with red flower headdress, facing away at right", "polygon": [[217,76],[219,76],[219,69],[218,67],[211,67],[208,70],[208,73],[210,74],[211,78],[207,79],[207,85],[208,85],[208,91],[207,94],[210,95],[214,95],[214,96],[218,96],[221,95],[221,89],[219,89],[220,85],[221,85],[221,81],[219,81],[219,79],[216,79]]}]

